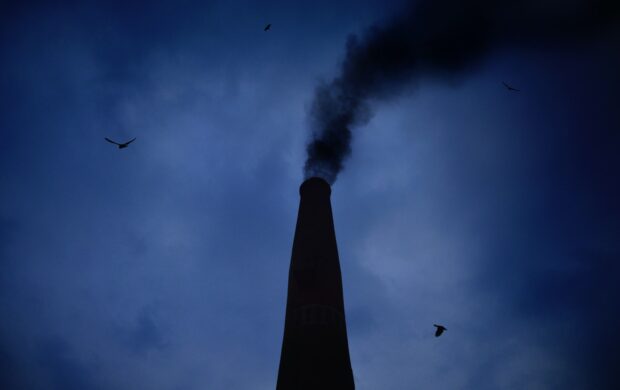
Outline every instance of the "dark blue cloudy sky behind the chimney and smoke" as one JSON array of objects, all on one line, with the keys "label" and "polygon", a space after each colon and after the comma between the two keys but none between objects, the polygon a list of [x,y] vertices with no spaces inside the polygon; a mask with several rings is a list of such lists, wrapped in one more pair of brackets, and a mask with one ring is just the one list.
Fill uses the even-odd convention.
[{"label": "dark blue cloudy sky behind the chimney and smoke", "polygon": [[[408,3],[3,2],[0,388],[273,389],[317,87]],[[358,389],[620,388],[618,6],[504,3],[351,122]]]}]

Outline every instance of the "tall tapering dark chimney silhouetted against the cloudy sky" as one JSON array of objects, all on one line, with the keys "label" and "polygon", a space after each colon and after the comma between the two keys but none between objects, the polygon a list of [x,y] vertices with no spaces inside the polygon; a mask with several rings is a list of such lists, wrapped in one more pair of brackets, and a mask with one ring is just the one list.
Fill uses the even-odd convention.
[{"label": "tall tapering dark chimney silhouetted against the cloudy sky", "polygon": [[276,389],[354,389],[331,188],[313,177],[299,194]]}]

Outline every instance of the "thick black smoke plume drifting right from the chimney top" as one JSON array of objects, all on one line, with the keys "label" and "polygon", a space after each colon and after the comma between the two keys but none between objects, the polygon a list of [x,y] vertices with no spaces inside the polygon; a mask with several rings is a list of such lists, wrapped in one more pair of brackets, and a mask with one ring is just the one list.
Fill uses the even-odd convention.
[{"label": "thick black smoke plume drifting right from the chimney top", "polygon": [[384,26],[349,37],[339,75],[310,109],[306,178],[333,183],[351,154],[352,129],[424,75],[458,76],[503,47],[572,45],[617,22],[618,0],[419,0]]}]

